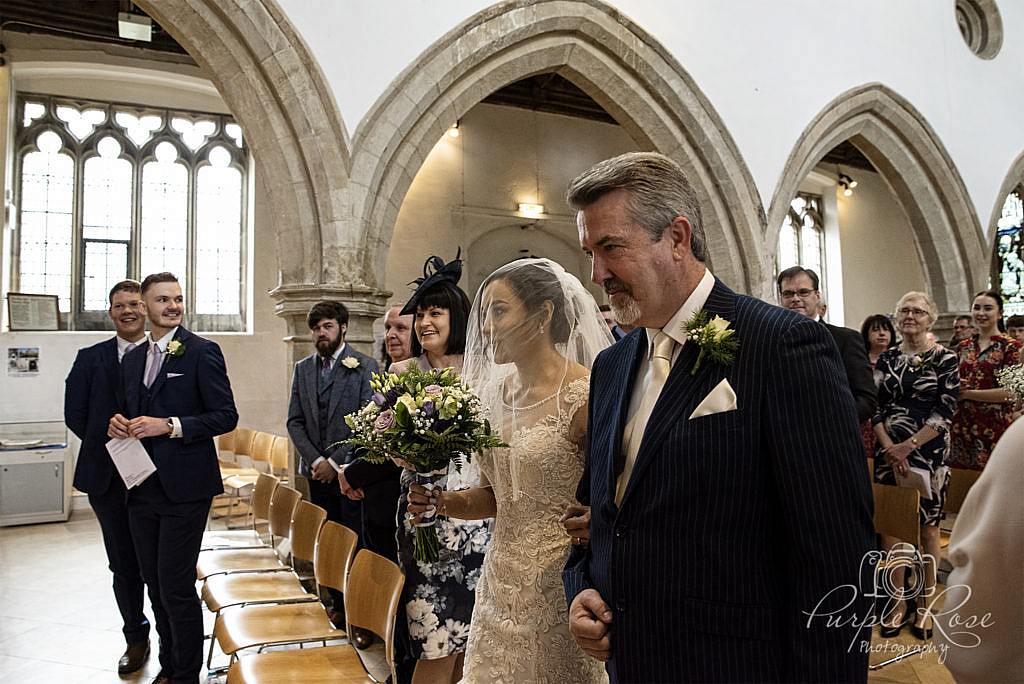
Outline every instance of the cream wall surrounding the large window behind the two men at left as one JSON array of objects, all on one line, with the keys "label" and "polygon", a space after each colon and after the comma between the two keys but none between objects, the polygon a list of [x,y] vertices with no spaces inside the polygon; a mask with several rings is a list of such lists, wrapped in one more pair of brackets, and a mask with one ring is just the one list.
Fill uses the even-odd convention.
[{"label": "cream wall surrounding the large window behind the two men at left", "polygon": [[[26,37],[13,41],[22,44]],[[37,39],[37,37],[33,37]],[[37,45],[49,45],[39,39]],[[165,61],[128,59],[111,56],[94,44],[57,41],[50,45],[25,49],[13,48],[5,54],[8,66],[0,68],[5,77],[13,74],[13,87],[19,91],[41,92],[69,97],[111,99],[154,106],[226,112],[212,84],[202,79],[195,67]],[[71,47],[69,47],[71,45]],[[30,58],[31,57],[31,58]],[[119,84],[117,76],[121,75]],[[5,79],[0,79],[0,87]],[[126,85],[127,84],[127,85]],[[0,106],[5,111],[12,92],[0,90]],[[0,127],[3,119],[0,118]],[[0,159],[7,159],[6,145],[12,131],[0,130]],[[278,285],[274,226],[272,211],[262,200],[256,163],[255,191],[252,193],[253,219],[249,275],[249,331],[236,334],[212,334],[224,352],[234,391],[240,424],[256,429],[285,433],[285,418],[291,376],[287,370],[287,334],[285,322],[274,315],[267,291]],[[0,175],[0,184],[10,187],[10,177]],[[13,216],[11,216],[11,219]],[[9,270],[9,226],[3,229],[5,274]],[[4,292],[8,283],[4,282]],[[0,333],[0,350],[6,357],[8,347],[39,347],[40,374],[32,378],[13,378],[6,371],[0,375],[0,416],[4,421],[54,420],[62,417],[63,380],[77,350],[98,342],[110,333]]]}]

